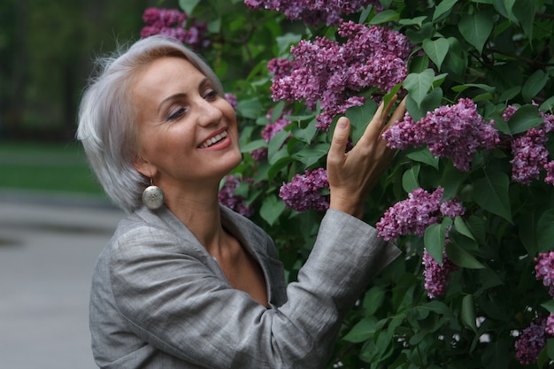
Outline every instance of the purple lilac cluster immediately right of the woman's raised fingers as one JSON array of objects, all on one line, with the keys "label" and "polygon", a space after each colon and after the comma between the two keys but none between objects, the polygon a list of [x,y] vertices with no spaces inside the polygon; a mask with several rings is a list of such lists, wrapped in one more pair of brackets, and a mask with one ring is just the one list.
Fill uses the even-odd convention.
[{"label": "purple lilac cluster immediately right of the woman's raised fingers", "polygon": [[469,170],[476,150],[490,150],[500,142],[493,120],[487,123],[468,98],[428,111],[418,122],[406,114],[403,121],[383,133],[383,139],[396,149],[427,145],[435,157],[450,158],[462,171]]}]

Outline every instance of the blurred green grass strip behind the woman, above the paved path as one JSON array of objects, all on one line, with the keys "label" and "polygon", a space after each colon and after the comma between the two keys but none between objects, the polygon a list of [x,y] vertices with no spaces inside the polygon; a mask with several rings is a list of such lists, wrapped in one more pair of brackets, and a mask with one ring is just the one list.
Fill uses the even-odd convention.
[{"label": "blurred green grass strip behind the woman, above the paved path", "polygon": [[0,188],[103,194],[76,142],[0,142],[0,173]]}]

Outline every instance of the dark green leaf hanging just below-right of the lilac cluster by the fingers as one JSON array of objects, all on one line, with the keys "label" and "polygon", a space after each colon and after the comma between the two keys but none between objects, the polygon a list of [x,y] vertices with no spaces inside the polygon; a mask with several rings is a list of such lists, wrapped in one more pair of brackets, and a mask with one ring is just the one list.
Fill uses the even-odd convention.
[{"label": "dark green leaf hanging just below-right of the lilac cluster by the fingers", "polygon": [[512,223],[510,196],[508,189],[510,179],[502,172],[485,173],[485,176],[473,182],[473,198],[486,211]]}]

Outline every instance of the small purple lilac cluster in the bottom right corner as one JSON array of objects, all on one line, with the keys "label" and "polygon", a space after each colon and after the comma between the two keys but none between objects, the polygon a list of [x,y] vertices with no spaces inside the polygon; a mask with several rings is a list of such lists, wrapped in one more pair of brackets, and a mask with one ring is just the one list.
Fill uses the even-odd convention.
[{"label": "small purple lilac cluster in the bottom right corner", "polygon": [[535,319],[531,325],[519,334],[518,340],[515,342],[516,357],[519,364],[529,365],[535,364],[537,357],[546,344],[546,320]]}]

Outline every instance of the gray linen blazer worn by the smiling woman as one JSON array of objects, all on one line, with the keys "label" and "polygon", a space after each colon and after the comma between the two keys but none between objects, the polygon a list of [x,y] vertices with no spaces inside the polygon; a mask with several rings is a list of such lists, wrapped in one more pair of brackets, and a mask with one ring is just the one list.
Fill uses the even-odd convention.
[{"label": "gray linen blazer worn by the smiling woman", "polygon": [[119,223],[96,263],[90,331],[97,365],[323,368],[344,314],[400,254],[373,227],[329,210],[298,281],[285,286],[269,236],[225,207],[221,216],[261,265],[271,307],[232,288],[171,211],[142,208]]}]

